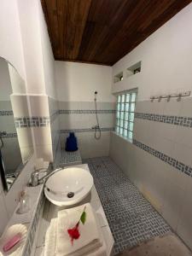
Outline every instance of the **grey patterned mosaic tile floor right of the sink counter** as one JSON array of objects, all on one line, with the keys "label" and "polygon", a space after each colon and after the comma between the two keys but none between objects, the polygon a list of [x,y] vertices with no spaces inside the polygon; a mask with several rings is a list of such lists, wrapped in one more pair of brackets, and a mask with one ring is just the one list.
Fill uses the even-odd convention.
[{"label": "grey patterned mosaic tile floor right of the sink counter", "polygon": [[171,231],[166,221],[109,157],[92,158],[84,163],[89,164],[108,218],[115,254]]}]

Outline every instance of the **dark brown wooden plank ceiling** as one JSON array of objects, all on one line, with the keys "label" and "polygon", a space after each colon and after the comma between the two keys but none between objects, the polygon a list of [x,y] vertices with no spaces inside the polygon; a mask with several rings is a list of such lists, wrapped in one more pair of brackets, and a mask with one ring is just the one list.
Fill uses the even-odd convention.
[{"label": "dark brown wooden plank ceiling", "polygon": [[41,0],[55,60],[113,65],[192,0]]}]

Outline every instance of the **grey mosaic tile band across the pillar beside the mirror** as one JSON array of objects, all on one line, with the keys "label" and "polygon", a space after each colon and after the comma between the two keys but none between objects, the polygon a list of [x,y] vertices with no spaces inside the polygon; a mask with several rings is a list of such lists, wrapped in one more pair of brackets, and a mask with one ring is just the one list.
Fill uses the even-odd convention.
[{"label": "grey mosaic tile band across the pillar beside the mirror", "polygon": [[49,117],[22,117],[15,118],[16,128],[45,127],[50,124]]}]

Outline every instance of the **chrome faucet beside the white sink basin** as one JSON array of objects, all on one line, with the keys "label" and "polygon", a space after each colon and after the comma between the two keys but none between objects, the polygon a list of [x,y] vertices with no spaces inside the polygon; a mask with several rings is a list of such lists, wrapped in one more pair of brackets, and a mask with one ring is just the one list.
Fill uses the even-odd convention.
[{"label": "chrome faucet beside the white sink basin", "polygon": [[62,168],[59,168],[59,169],[56,169],[55,171],[53,172],[49,172],[47,174],[44,175],[44,177],[38,177],[40,173],[43,173],[43,172],[48,172],[47,169],[45,168],[40,168],[38,170],[35,170],[34,172],[32,172],[31,174],[31,178],[32,178],[32,187],[36,187],[38,186],[39,184],[42,184],[44,183],[51,175],[53,175],[55,172],[58,172],[62,170]]}]

